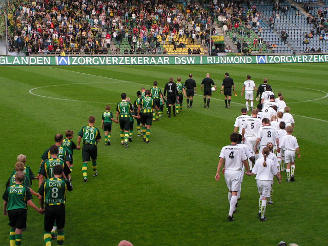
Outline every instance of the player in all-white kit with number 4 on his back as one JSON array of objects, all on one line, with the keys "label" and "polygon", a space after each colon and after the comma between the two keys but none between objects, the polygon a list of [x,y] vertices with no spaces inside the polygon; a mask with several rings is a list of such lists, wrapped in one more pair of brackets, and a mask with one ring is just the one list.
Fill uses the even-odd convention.
[{"label": "player in all-white kit with number 4 on his back", "polygon": [[223,165],[222,173],[224,174],[224,179],[226,179],[228,187],[228,200],[230,203],[230,210],[228,214],[228,219],[230,221],[234,220],[233,212],[237,203],[237,192],[240,190],[241,182],[241,170],[242,166],[247,169],[249,173],[249,168],[247,165],[247,156],[245,155],[244,149],[237,145],[238,133],[231,133],[230,135],[231,145],[225,146],[221,149],[220,160],[217,166],[217,172],[215,175],[216,181],[220,179],[220,169]]}]

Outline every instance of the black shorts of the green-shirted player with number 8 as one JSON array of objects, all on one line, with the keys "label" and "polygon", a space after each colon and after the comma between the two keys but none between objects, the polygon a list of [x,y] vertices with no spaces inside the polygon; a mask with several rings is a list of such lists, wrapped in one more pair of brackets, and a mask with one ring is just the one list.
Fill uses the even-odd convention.
[{"label": "black shorts of the green-shirted player with number 8", "polygon": [[46,206],[46,211],[44,216],[45,216],[45,223],[44,223],[45,232],[51,232],[55,221],[58,229],[62,229],[65,227],[64,204]]}]

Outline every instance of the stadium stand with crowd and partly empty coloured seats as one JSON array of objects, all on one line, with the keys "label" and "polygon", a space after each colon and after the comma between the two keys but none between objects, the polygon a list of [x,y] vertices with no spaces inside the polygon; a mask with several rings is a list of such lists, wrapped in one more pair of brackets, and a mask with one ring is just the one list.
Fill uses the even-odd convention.
[{"label": "stadium stand with crowd and partly empty coloured seats", "polygon": [[[38,54],[207,54],[210,32],[226,52],[327,52],[327,2],[286,0],[32,0],[13,6],[10,51]],[[20,3],[20,2],[18,2]],[[313,13],[311,16],[308,13]],[[210,30],[212,22],[212,30]],[[295,28],[297,27],[297,28]],[[306,39],[306,40],[305,40]],[[212,51],[215,51],[212,42]]]}]

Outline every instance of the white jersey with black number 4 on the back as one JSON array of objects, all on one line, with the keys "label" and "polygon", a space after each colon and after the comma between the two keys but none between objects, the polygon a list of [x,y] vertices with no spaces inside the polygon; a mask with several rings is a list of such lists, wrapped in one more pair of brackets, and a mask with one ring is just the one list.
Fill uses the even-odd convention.
[{"label": "white jersey with black number 4 on the back", "polygon": [[219,157],[224,159],[224,169],[232,171],[241,171],[242,161],[247,159],[243,147],[238,145],[224,146]]}]

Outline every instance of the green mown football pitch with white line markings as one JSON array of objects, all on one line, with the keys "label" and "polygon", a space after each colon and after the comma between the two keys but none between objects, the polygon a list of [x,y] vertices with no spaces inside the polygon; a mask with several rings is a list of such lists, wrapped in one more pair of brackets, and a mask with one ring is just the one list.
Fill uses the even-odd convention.
[{"label": "green mown football pitch with white line markings", "polygon": [[[200,91],[206,73],[216,83],[209,109]],[[236,85],[231,109],[219,93],[224,72]],[[100,129],[105,105],[115,115],[120,94],[134,101],[136,91],[152,86],[163,89],[169,77],[182,81],[193,73],[197,95],[192,109],[183,99],[182,113],[165,114],[153,123],[150,144],[133,132],[130,148],[120,145],[119,126],[113,124],[111,146],[105,146]],[[218,155],[230,144],[229,135],[244,98],[243,81],[255,84],[264,77],[277,94],[282,92],[295,119],[301,158],[296,160],[295,182],[274,183],[273,204],[265,222],[258,213],[259,194],[254,176],[245,176],[241,200],[228,222],[228,192],[221,175],[215,181]],[[67,194],[64,245],[277,245],[283,240],[299,245],[325,245],[328,189],[327,64],[176,65],[176,66],[2,66],[0,191],[14,168],[18,154],[37,173],[40,155],[53,144],[56,133],[77,133],[96,117],[103,137],[98,145],[98,176],[83,183],[81,151],[74,151],[73,191]],[[255,101],[256,103],[256,101]],[[136,122],[135,122],[136,125]],[[32,189],[37,191],[37,181]],[[33,202],[38,204],[34,197]],[[2,206],[1,206],[2,207]],[[0,245],[9,245],[8,217],[0,217]],[[44,245],[43,216],[28,211],[22,245]],[[53,241],[53,245],[56,243]]]}]

